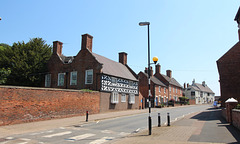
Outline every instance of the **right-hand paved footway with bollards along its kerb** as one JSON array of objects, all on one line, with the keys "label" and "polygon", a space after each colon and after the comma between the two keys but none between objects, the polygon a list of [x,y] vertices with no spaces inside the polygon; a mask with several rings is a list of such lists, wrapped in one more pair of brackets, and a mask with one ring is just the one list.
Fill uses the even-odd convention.
[{"label": "right-hand paved footway with bollards along its kerb", "polygon": [[209,108],[203,112],[187,115],[170,126],[154,127],[151,135],[145,130],[113,143],[239,144],[240,131],[223,119],[221,109]]}]

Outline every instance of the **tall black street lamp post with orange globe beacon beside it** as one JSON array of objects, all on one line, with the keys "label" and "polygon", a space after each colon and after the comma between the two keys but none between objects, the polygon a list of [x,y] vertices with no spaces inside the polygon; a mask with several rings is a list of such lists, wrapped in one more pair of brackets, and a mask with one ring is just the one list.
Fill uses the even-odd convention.
[{"label": "tall black street lamp post with orange globe beacon beside it", "polygon": [[[148,27],[148,108],[149,108],[149,116],[148,116],[148,130],[149,130],[149,135],[152,134],[152,118],[151,118],[151,80],[150,80],[150,35],[149,35],[149,25],[150,22],[140,22],[140,26],[145,26],[147,25]],[[153,58],[154,63],[156,64],[158,61],[157,57]]]}]

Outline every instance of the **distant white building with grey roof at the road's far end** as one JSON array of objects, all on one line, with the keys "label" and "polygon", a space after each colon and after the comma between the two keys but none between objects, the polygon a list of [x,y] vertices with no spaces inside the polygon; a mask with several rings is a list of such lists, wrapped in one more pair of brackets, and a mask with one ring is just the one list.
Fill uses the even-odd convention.
[{"label": "distant white building with grey roof at the road's far end", "polygon": [[190,100],[195,100],[196,104],[213,103],[215,95],[205,81],[199,84],[195,83],[195,80],[193,80],[192,85],[188,84],[187,88],[184,87],[184,93]]}]

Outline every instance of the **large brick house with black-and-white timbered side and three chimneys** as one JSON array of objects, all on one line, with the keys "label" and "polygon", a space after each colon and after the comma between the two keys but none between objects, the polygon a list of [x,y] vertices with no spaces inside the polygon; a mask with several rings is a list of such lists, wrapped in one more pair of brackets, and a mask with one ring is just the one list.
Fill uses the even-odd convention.
[{"label": "large brick house with black-and-white timbered side and three chimneys", "polygon": [[137,109],[137,75],[127,65],[127,53],[119,53],[119,62],[92,52],[93,37],[82,35],[81,50],[76,56],[62,54],[62,42],[53,42],[45,87],[101,91],[100,110]]}]

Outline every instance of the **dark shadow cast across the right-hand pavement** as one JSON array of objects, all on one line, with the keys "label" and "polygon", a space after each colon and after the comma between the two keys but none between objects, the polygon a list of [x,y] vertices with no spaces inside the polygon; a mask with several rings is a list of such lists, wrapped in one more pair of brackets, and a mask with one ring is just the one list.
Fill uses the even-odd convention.
[{"label": "dark shadow cast across the right-hand pavement", "polygon": [[[221,115],[222,110],[221,109],[215,109],[215,108],[209,108],[207,111],[204,111],[202,113],[199,113],[191,119],[197,119],[199,121],[216,121],[217,127],[226,127],[227,130],[232,134],[232,136],[237,140],[237,142],[240,142],[240,131],[235,128],[233,125],[230,125]],[[220,121],[220,122],[219,122]],[[213,123],[215,124],[215,123]]]}]

